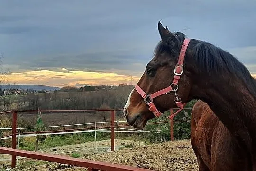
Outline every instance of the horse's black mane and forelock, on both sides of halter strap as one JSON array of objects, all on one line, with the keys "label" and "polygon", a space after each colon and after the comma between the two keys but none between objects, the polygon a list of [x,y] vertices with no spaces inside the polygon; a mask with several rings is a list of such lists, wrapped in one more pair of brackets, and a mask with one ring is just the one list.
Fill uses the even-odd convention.
[{"label": "horse's black mane and forelock, on both sides of halter strap", "polygon": [[[167,52],[178,60],[181,46],[186,36],[181,32],[172,34],[175,36],[170,36],[167,40],[160,41],[157,44],[154,51],[155,57]],[[248,90],[256,97],[256,79],[251,76],[249,70],[236,57],[208,42],[191,39],[190,43],[192,44],[190,47],[193,49],[193,58],[196,66],[210,74],[222,71],[233,73],[243,80]]]}]

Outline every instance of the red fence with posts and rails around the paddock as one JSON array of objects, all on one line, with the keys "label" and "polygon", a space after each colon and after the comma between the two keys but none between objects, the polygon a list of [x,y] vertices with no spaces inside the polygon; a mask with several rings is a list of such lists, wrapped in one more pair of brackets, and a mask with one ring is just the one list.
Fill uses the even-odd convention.
[{"label": "red fence with posts and rails around the paddock", "polygon": [[[0,153],[3,154],[11,154],[11,168],[15,168],[16,166],[16,155],[22,156],[22,157],[27,157],[27,158],[32,158],[32,159],[39,159],[39,160],[45,160],[49,162],[59,162],[59,163],[64,163],[64,164],[72,164],[72,165],[77,165],[77,166],[82,166],[82,167],[87,167],[91,168],[91,171],[97,171],[97,170],[104,170],[104,171],[110,171],[115,168],[115,170],[119,170],[120,167],[122,168],[122,171],[146,171],[144,169],[140,168],[133,168],[133,167],[127,167],[127,166],[121,166],[121,165],[115,165],[115,164],[110,164],[110,163],[103,163],[103,162],[96,162],[96,161],[88,161],[88,160],[82,160],[82,159],[75,159],[71,157],[63,157],[63,156],[55,156],[53,154],[42,154],[42,153],[34,153],[34,152],[28,152],[24,150],[18,150],[16,149],[16,136],[18,135],[28,135],[28,134],[46,134],[46,133],[65,133],[65,132],[73,132],[73,131],[84,131],[88,129],[95,129],[96,128],[79,128],[79,129],[66,129],[66,130],[55,130],[55,131],[40,131],[40,132],[24,132],[24,133],[17,133],[17,112],[22,113],[22,112],[64,112],[64,111],[79,111],[79,112],[89,112],[89,111],[110,111],[111,112],[111,126],[110,127],[98,127],[97,129],[104,129],[104,128],[110,128],[110,135],[111,135],[111,151],[114,151],[115,147],[115,128],[117,127],[115,125],[115,112],[119,110],[40,110],[40,111],[8,111],[8,112],[2,112],[0,114],[4,113],[12,113],[12,149],[10,148],[5,148],[5,147],[0,147]],[[172,109],[171,109],[172,113]],[[162,121],[162,122],[155,122],[155,123],[147,123],[147,124],[160,124],[160,123],[170,123],[170,139],[171,141],[174,140],[174,132],[173,132],[173,123],[174,120],[170,121]],[[118,127],[125,127],[129,126],[128,124],[124,125],[119,125]],[[0,137],[1,138],[7,138],[9,136],[4,136]],[[126,168],[126,169],[125,169]]]}]

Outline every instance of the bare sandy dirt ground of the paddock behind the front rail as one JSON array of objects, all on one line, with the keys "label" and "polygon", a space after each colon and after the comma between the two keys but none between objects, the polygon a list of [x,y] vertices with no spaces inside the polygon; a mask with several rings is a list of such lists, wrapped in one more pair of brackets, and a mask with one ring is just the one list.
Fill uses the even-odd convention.
[{"label": "bare sandy dirt ground of the paddock behind the front rail", "polygon": [[[102,141],[102,146],[105,143],[110,143],[110,141],[107,141]],[[84,151],[78,151],[78,153],[80,154],[80,158],[84,159],[135,166],[156,171],[198,171],[197,160],[193,153],[190,139],[148,145],[142,142],[140,142],[140,145],[138,145],[138,142],[133,144],[134,141],[128,140],[115,140],[115,143],[119,147],[120,145],[125,146],[108,153],[92,154],[89,152],[84,153]],[[43,152],[53,153],[55,149],[56,153],[64,152],[58,155],[70,156],[70,152],[65,153],[65,150],[72,151],[78,148],[88,148],[88,146],[84,147],[82,144],[68,145],[66,147],[47,149]],[[6,168],[9,165],[9,162],[0,163],[0,167],[2,168]],[[18,168],[13,171],[87,171],[87,169],[53,162],[20,159]]]}]

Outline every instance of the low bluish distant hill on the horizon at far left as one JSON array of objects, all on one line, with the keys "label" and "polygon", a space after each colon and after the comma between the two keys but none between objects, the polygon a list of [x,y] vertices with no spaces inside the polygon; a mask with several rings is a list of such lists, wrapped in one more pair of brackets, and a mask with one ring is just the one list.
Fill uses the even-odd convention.
[{"label": "low bluish distant hill on the horizon at far left", "polygon": [[21,89],[21,90],[46,90],[46,91],[54,91],[60,90],[59,87],[51,87],[46,85],[0,85],[2,89]]}]

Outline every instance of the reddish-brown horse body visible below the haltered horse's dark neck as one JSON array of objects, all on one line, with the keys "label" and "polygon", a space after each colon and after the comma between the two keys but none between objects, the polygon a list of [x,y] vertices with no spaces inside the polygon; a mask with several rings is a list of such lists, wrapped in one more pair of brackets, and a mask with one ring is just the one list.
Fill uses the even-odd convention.
[{"label": "reddish-brown horse body visible below the haltered horse's dark neck", "polygon": [[[199,100],[191,114],[191,146],[197,157],[199,171],[241,171],[242,148],[207,103]],[[248,163],[246,163],[247,165]]]}]

